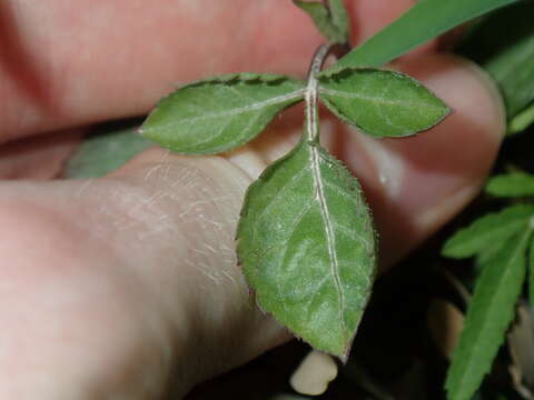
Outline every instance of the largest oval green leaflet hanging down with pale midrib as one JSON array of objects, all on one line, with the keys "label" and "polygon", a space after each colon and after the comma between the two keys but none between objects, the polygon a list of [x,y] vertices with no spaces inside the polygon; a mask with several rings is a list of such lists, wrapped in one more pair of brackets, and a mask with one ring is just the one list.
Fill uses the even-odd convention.
[{"label": "largest oval green leaflet hanging down with pale midrib", "polygon": [[346,359],[375,274],[358,181],[303,140],[246,196],[238,258],[261,309],[315,349]]}]

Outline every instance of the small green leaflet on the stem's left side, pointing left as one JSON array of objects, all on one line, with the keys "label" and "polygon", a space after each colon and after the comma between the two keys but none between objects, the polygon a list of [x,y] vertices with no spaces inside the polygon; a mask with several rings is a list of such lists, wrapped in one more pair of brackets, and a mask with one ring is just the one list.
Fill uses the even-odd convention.
[{"label": "small green leaflet on the stem's left side, pointing left", "polygon": [[254,139],[303,96],[304,82],[284,76],[221,76],[185,86],[162,99],[140,133],[179,153],[228,151]]}]

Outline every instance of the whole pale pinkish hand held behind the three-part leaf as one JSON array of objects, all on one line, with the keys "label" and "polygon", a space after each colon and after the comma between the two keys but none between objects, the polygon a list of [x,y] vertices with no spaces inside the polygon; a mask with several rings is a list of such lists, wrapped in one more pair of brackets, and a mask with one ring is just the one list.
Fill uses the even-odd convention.
[{"label": "whole pale pinkish hand held behind the three-part leaf", "polygon": [[[411,1],[347,3],[357,42]],[[290,1],[226,4],[0,4],[0,174],[10,179],[0,183],[1,399],[160,399],[289,339],[255,307],[234,231],[246,187],[295,140],[301,109],[231,154],[151,149],[103,179],[50,181],[77,144],[76,127],[148,112],[176,83],[305,73],[322,39]],[[436,48],[394,68],[448,102],[455,112],[438,127],[370,142],[324,118],[325,142],[367,190],[383,266],[476,194],[504,131],[490,81]]]}]

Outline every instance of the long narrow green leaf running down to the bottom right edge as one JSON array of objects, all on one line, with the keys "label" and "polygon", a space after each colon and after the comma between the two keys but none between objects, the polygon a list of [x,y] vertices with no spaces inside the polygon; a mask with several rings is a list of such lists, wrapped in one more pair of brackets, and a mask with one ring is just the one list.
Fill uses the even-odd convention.
[{"label": "long narrow green leaf running down to the bottom right edge", "polygon": [[471,399],[492,367],[515,314],[515,303],[525,279],[530,236],[531,230],[525,229],[508,238],[482,270],[447,373],[448,400]]}]

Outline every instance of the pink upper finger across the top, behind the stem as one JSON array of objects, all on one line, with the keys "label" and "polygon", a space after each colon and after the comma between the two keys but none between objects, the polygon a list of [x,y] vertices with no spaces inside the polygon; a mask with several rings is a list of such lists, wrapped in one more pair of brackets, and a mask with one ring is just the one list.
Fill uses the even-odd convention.
[{"label": "pink upper finger across the top, behind the stem", "polygon": [[[409,1],[347,4],[357,41]],[[177,84],[206,76],[303,76],[322,41],[290,1],[3,1],[0,97],[10,100],[0,110],[0,142],[142,114]]]}]

